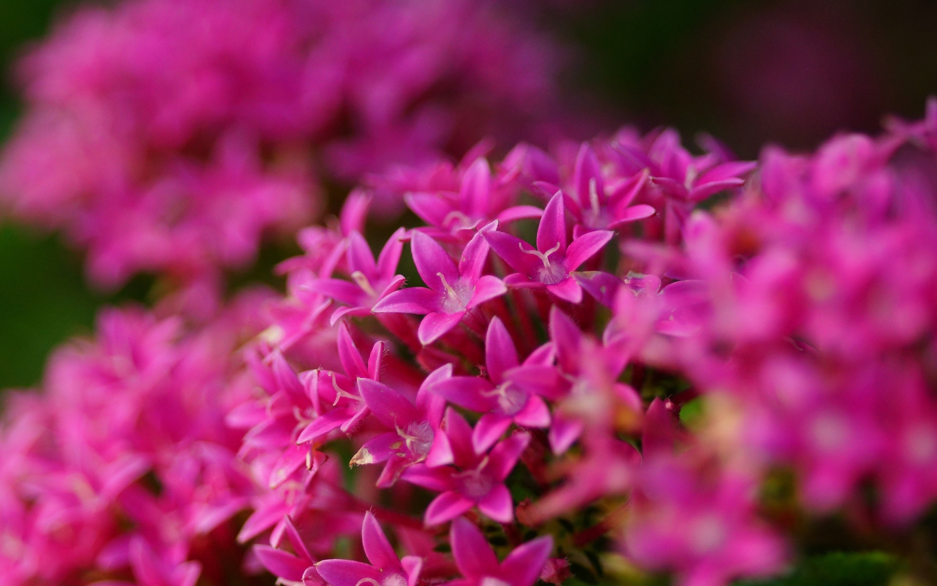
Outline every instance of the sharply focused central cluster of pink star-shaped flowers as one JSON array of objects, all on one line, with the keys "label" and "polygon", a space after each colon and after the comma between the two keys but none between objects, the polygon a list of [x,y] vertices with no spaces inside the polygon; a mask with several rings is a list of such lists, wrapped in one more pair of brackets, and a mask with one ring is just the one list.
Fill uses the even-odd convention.
[{"label": "sharply focused central cluster of pink star-shaped flowers", "polygon": [[[706,302],[696,281],[662,288],[651,269],[681,255],[697,203],[754,167],[706,146],[624,129],[556,158],[471,152],[378,178],[334,226],[305,231],[307,253],[281,265],[288,295],[247,351],[262,390],[229,419],[264,488],[240,534],[260,563],[306,585],[530,586],[602,573],[613,532],[688,584],[779,569],[758,478],[723,469],[675,402],[651,400],[678,380],[644,354],[662,352],[659,334],[689,335]],[[376,256],[362,231],[377,189],[404,191],[423,223]],[[637,308],[645,298],[670,313]],[[360,555],[336,545],[358,531],[370,564],[335,559]]]}]

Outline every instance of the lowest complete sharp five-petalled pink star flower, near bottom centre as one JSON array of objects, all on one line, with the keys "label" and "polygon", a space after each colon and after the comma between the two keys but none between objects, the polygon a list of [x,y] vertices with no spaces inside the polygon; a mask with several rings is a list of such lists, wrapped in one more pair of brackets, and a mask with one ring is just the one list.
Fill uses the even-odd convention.
[{"label": "lowest complete sharp five-petalled pink star flower, near bottom centre", "polygon": [[513,501],[504,479],[521,457],[530,436],[515,433],[490,451],[476,454],[471,427],[450,408],[445,415],[445,438],[453,465],[419,464],[403,474],[403,479],[409,483],[441,492],[426,507],[426,524],[439,525],[476,505],[488,517],[510,523],[514,517]]}]

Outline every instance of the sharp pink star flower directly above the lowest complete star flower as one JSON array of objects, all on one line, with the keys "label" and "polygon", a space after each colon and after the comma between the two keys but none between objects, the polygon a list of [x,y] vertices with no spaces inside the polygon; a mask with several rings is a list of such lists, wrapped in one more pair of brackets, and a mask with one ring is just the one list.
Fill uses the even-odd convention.
[{"label": "sharp pink star flower directly above the lowest complete star flower", "polygon": [[[549,353],[552,349],[546,350]],[[456,376],[430,387],[433,393],[460,407],[483,413],[472,430],[472,446],[478,454],[498,442],[512,422],[522,428],[550,425],[550,411],[536,394],[536,379],[543,377],[543,383],[547,383],[552,374],[549,365],[544,364],[545,353],[531,354],[525,362],[528,368],[521,367],[511,334],[497,316],[488,323],[484,352],[488,380]],[[518,375],[517,380],[512,374]]]}]

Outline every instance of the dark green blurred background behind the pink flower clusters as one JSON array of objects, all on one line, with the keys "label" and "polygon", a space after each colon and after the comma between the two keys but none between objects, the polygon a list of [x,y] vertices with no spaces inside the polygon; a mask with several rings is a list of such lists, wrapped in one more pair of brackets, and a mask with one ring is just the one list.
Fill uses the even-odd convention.
[{"label": "dark green blurred background behind the pink flower clusters", "polygon": [[[517,0],[520,2],[521,0]],[[565,80],[594,98],[606,128],[706,130],[746,158],[761,144],[810,148],[840,129],[875,131],[884,113],[920,117],[937,94],[932,0],[524,0],[577,53]],[[74,2],[0,0],[0,67]],[[0,134],[18,105],[7,73]],[[0,223],[0,388],[38,382],[49,351],[91,331],[105,303],[82,259],[53,234]]]}]

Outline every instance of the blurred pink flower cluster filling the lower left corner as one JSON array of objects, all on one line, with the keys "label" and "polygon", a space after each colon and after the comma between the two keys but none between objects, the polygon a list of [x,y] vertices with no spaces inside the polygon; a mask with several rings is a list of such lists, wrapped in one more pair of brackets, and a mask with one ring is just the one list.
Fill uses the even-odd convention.
[{"label": "blurred pink flower cluster filling the lower left corner", "polygon": [[[221,583],[245,552],[235,516],[257,493],[225,424],[249,396],[231,359],[270,293],[198,329],[137,308],[52,356],[43,394],[0,426],[4,584]],[[104,583],[104,582],[101,582]]]}]

